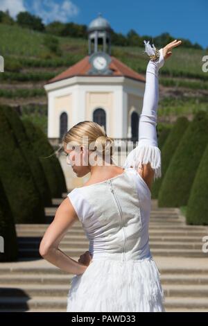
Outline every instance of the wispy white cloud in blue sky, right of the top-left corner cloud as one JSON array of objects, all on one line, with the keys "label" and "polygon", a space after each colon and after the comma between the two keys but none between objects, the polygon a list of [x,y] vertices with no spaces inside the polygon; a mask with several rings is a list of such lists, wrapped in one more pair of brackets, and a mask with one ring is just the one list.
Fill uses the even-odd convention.
[{"label": "wispy white cloud in blue sky, right of the top-left corner cloud", "polygon": [[65,23],[79,13],[79,8],[70,0],[61,3],[56,3],[55,0],[34,0],[31,10],[34,15],[41,17],[45,24],[54,20]]}]

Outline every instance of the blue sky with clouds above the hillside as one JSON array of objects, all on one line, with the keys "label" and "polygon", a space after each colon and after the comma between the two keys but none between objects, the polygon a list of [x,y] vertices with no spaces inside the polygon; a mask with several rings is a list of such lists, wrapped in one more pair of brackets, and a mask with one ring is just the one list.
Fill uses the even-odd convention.
[{"label": "blue sky with clouds above the hillside", "polygon": [[0,0],[0,10],[6,8],[13,17],[28,10],[46,24],[60,20],[88,25],[101,12],[117,33],[134,29],[155,37],[168,32],[208,46],[207,0]]}]

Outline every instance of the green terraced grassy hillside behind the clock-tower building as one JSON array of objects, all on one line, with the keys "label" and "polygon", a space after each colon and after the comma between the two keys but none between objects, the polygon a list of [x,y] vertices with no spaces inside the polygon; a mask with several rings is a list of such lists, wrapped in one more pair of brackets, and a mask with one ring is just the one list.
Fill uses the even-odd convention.
[{"label": "green terraced grassy hillside behind the clock-tower building", "polygon": [[[21,108],[24,109],[24,117],[25,115],[32,117],[33,114],[33,119],[46,132],[46,96],[34,91],[35,96],[28,94],[28,96],[23,97],[22,89],[42,89],[47,80],[44,74],[49,74],[52,71],[56,75],[59,71],[64,71],[74,62],[87,55],[87,40],[58,37],[62,55],[55,56],[44,46],[44,33],[30,31],[19,26],[0,24],[0,35],[0,50],[1,55],[5,58],[5,71],[6,62],[9,58],[15,58],[17,62],[24,62],[24,58],[25,60],[32,60],[30,67],[24,67],[21,63],[22,69],[18,73],[21,75],[31,74],[31,80],[15,81],[15,78],[10,77],[10,75],[8,75],[8,80],[1,80],[1,90],[3,90],[0,103],[21,105]],[[208,74],[202,72],[202,57],[206,54],[205,51],[185,49],[182,46],[173,49],[173,57],[166,62],[160,71],[159,117],[192,114],[201,109],[208,110]],[[51,58],[48,58],[48,55]],[[148,57],[144,53],[144,48],[112,45],[112,55],[135,71],[145,74]],[[33,67],[35,66],[34,60],[40,61],[40,67],[37,68],[37,65]],[[52,63],[54,65],[55,62],[57,68],[47,68],[46,66],[50,62],[51,65]],[[42,80],[32,80],[32,74],[35,72],[40,74],[41,69]],[[42,110],[34,111],[37,105]]]}]

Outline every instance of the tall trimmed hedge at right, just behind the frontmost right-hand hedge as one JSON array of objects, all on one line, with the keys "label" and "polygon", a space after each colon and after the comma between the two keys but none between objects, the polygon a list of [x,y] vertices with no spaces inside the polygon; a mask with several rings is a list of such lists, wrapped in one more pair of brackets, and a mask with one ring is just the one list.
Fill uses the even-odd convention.
[{"label": "tall trimmed hedge at right, just behind the frontmost right-hand hedge", "polygon": [[189,124],[159,189],[159,207],[187,205],[196,171],[208,143],[207,113],[200,111]]}]

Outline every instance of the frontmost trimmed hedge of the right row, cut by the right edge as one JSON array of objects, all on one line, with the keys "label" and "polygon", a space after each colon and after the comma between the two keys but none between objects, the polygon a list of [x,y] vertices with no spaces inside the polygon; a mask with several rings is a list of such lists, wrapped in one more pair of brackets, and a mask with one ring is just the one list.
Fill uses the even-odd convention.
[{"label": "frontmost trimmed hedge of the right row, cut by the right edge", "polygon": [[187,224],[208,225],[208,144],[198,166],[187,204]]}]

